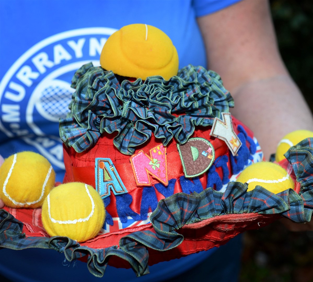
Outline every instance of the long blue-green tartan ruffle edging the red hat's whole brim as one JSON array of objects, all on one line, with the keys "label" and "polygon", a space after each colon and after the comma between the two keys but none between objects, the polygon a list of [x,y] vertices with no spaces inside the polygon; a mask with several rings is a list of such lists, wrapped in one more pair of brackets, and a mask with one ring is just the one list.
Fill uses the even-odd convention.
[{"label": "long blue-green tartan ruffle edging the red hat's whole brim", "polygon": [[[166,251],[177,247],[184,237],[178,229],[206,219],[229,214],[281,214],[295,222],[309,222],[313,211],[313,138],[292,147],[286,154],[292,164],[300,193],[285,190],[273,194],[261,186],[247,192],[247,184],[229,182],[224,193],[207,188],[201,193],[177,193],[159,201],[151,214],[153,229],[136,231],[124,236],[118,246],[92,249],[67,237],[25,237],[23,224],[5,210],[0,210],[0,247],[9,249],[43,248],[64,252],[67,260],[88,254],[89,271],[102,277],[112,255],[128,261],[137,274],[149,273],[147,248]],[[194,228],[194,227],[193,227]],[[229,230],[230,231],[230,230]]]}]

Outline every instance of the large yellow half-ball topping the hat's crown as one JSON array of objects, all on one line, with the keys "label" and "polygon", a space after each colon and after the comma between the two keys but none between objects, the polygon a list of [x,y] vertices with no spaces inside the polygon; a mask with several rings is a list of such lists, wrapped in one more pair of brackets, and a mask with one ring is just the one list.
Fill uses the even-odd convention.
[{"label": "large yellow half-ball topping the hat's crown", "polygon": [[141,78],[177,75],[178,54],[172,40],[160,29],[145,24],[130,24],[113,33],[105,42],[101,67],[113,73]]}]

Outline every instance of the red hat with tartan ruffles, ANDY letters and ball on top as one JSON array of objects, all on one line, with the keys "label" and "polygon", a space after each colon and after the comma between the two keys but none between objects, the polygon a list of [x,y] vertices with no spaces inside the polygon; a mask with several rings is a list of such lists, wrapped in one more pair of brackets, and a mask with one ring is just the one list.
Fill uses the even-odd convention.
[{"label": "red hat with tartan ruffles, ANDY letters and ball on top", "polygon": [[[311,199],[313,176],[300,167],[312,164],[312,140],[292,147],[288,160],[280,162],[297,183],[295,190],[273,194],[257,186],[247,192],[248,185],[236,179],[264,160],[263,153],[253,132],[229,113],[233,98],[220,76],[192,65],[173,74],[178,58],[167,39],[172,55],[158,63],[171,65],[169,77],[158,73],[159,65],[150,62],[146,68],[147,54],[137,66],[149,69],[148,75],[115,70],[115,57],[118,67],[131,58],[126,63],[131,70],[136,51],[150,50],[124,52],[127,44],[153,43],[153,35],[166,38],[150,26],[134,28],[122,28],[108,39],[101,67],[89,63],[75,73],[71,111],[60,120],[64,183],[92,186],[105,204],[105,223],[95,238],[82,243],[49,238],[40,224],[33,226],[43,244],[54,242],[71,259],[87,252],[88,268],[96,276],[103,275],[107,263],[131,265],[141,276],[149,272],[148,265],[225,244],[281,215],[310,221],[312,209],[305,201]],[[162,48],[151,52],[151,60]],[[25,209],[14,212],[29,220]],[[19,226],[10,213],[3,216]],[[20,228],[32,237],[27,226]]]}]

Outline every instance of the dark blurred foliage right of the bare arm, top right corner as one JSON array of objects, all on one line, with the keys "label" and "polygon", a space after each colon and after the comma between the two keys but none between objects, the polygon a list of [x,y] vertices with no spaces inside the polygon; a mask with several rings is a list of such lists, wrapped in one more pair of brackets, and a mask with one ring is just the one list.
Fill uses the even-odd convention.
[{"label": "dark blurred foliage right of the bare arm, top right corner", "polygon": [[270,0],[281,56],[313,112],[313,3]]}]

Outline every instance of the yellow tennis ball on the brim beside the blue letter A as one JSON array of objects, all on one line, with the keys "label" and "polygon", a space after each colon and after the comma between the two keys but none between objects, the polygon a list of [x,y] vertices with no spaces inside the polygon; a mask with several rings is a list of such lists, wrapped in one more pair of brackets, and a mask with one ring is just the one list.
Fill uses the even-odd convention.
[{"label": "yellow tennis ball on the brim beside the blue letter A", "polygon": [[83,242],[99,233],[105,220],[105,207],[92,186],[70,182],[51,190],[44,200],[41,219],[50,236]]}]

